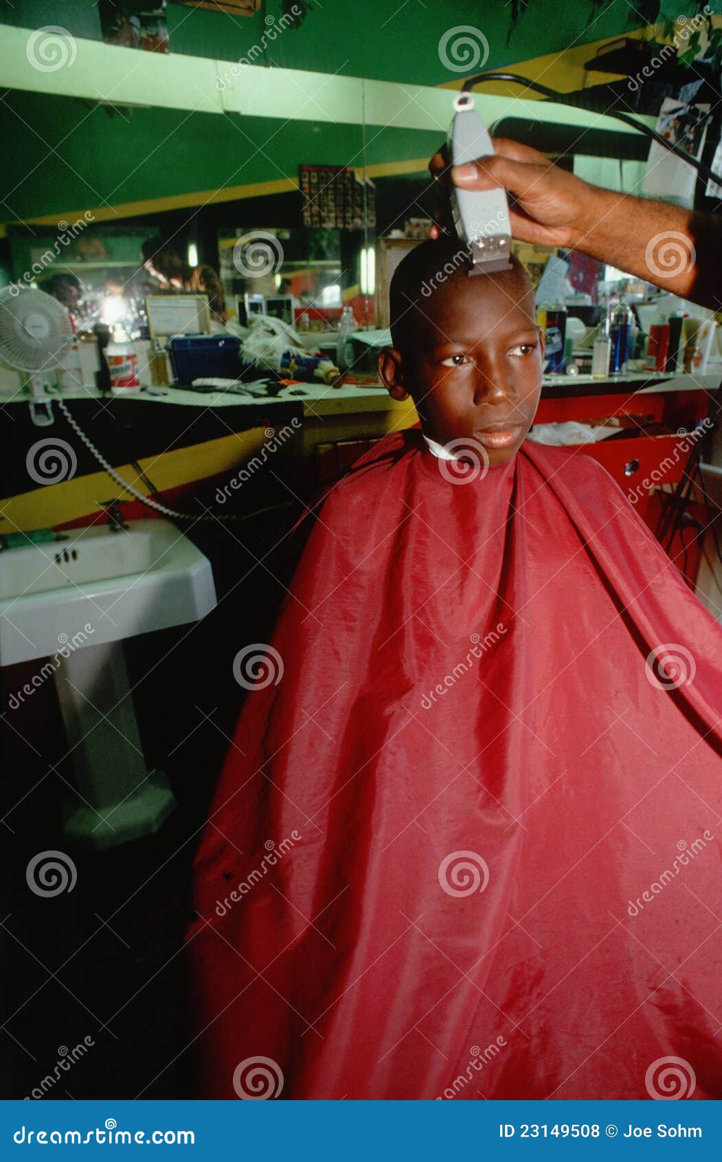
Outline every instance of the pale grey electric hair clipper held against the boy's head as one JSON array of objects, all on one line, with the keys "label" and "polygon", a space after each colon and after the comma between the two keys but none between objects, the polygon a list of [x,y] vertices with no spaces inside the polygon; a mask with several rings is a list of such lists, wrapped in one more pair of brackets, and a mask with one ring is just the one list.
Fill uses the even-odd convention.
[{"label": "pale grey electric hair clipper held against the boy's head", "polygon": [[[474,108],[471,93],[454,98],[454,120],[448,151],[452,165],[463,165],[493,153],[486,125]],[[452,217],[456,234],[470,251],[469,274],[511,270],[512,231],[508,202],[500,186],[493,189],[460,189],[449,182]]]}]

